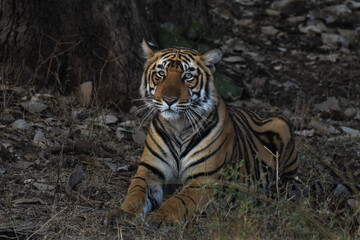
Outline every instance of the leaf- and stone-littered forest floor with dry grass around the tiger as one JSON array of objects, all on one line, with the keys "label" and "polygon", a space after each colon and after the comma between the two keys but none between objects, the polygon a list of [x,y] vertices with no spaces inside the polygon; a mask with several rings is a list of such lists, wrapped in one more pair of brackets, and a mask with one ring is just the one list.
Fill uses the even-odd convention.
[{"label": "leaf- and stone-littered forest floor with dry grass around the tiger", "polygon": [[[243,89],[233,104],[291,122],[310,194],[241,190],[235,206],[214,200],[170,229],[108,227],[142,152],[136,106],[83,107],[76,94],[1,79],[0,239],[360,239],[360,4],[280,2],[209,1],[223,31],[212,44],[224,51],[218,72]],[[353,193],[334,197],[335,183]]]}]

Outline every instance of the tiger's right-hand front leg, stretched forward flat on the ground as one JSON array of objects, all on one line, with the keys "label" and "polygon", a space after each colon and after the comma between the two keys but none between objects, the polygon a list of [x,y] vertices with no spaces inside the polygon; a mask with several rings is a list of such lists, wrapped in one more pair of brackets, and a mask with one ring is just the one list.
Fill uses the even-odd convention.
[{"label": "tiger's right-hand front leg, stretched forward flat on the ground", "polygon": [[161,207],[146,216],[146,222],[152,226],[159,227],[161,224],[190,220],[196,212],[200,212],[214,195],[214,190],[209,186],[216,179],[202,177],[191,180],[183,190],[175,196],[166,200]]}]

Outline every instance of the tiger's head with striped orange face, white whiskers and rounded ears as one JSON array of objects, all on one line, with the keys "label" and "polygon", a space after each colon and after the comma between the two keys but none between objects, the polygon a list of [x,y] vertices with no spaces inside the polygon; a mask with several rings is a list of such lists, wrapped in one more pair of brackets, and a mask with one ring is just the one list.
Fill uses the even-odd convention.
[{"label": "tiger's head with striped orange face, white whiskers and rounded ears", "polygon": [[147,61],[140,94],[150,110],[166,120],[196,123],[217,106],[212,73],[222,57],[220,49],[202,55],[184,47],[161,50],[146,41],[142,47]]}]

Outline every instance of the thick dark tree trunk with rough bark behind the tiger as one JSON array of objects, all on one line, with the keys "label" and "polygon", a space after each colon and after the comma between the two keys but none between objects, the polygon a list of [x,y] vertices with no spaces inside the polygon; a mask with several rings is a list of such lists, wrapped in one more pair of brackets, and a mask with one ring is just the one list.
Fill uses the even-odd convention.
[{"label": "thick dark tree trunk with rough bark behind the tiger", "polygon": [[206,1],[0,1],[0,77],[61,92],[92,81],[99,100],[128,108],[141,41],[154,41],[164,21],[207,23]]}]

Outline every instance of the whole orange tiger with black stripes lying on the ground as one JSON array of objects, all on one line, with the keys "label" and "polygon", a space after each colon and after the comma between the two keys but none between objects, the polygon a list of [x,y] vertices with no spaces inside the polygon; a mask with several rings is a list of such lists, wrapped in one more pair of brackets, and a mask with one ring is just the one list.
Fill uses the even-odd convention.
[{"label": "whole orange tiger with black stripes lying on the ground", "polygon": [[[264,189],[275,169],[282,181],[294,178],[299,160],[287,121],[234,107],[217,93],[213,73],[223,55],[220,48],[200,54],[185,47],[160,49],[147,41],[142,48],[140,95],[152,120],[119,211],[156,226],[189,220],[214,194],[204,186],[219,181],[226,165],[240,161],[239,175],[261,180]],[[180,190],[164,201],[174,183]]]}]

